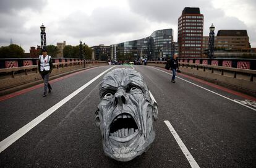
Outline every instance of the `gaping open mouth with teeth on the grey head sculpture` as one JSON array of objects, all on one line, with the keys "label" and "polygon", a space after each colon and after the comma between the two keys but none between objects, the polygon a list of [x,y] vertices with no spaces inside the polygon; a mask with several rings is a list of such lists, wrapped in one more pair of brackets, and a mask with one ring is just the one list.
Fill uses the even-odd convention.
[{"label": "gaping open mouth with teeth on the grey head sculpture", "polygon": [[119,142],[126,142],[134,138],[138,133],[138,126],[132,115],[122,113],[117,115],[111,123],[109,138]]}]

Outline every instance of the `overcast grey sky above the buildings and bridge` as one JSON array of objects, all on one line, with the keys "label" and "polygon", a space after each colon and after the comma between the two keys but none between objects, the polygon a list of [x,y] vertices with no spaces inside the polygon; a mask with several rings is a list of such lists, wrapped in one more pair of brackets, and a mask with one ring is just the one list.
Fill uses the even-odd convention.
[{"label": "overcast grey sky above the buildings and bridge", "polygon": [[255,0],[1,0],[0,46],[12,38],[29,52],[40,45],[40,26],[46,27],[47,44],[88,46],[116,44],[150,36],[155,30],[173,28],[177,41],[177,19],[184,7],[200,7],[204,15],[203,35],[211,23],[218,30],[247,30],[256,47]]}]

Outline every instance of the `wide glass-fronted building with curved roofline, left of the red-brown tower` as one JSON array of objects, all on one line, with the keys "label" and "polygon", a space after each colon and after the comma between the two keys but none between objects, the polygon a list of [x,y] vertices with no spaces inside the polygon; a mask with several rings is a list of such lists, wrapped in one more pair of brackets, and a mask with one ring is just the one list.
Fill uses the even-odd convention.
[{"label": "wide glass-fronted building with curved roofline, left of the red-brown tower", "polygon": [[111,54],[117,60],[158,60],[172,56],[172,42],[173,29],[156,30],[147,38],[111,45]]}]

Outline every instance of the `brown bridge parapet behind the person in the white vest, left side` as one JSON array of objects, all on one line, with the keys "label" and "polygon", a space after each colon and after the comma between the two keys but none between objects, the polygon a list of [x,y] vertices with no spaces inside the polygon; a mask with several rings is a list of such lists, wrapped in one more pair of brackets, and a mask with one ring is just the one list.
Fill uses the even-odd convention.
[{"label": "brown bridge parapet behind the person in the white vest, left side", "polygon": [[[88,67],[108,65],[108,62],[105,61],[85,61],[79,59],[54,59],[53,62],[51,79]],[[15,64],[17,65],[17,61]],[[23,65],[22,67],[9,66],[9,68],[0,69],[0,95],[11,93],[13,90],[16,91],[13,88],[19,87],[20,85],[24,85],[23,88],[25,88],[25,85],[29,83],[41,83],[38,65],[31,65],[31,61],[27,61]]]}]

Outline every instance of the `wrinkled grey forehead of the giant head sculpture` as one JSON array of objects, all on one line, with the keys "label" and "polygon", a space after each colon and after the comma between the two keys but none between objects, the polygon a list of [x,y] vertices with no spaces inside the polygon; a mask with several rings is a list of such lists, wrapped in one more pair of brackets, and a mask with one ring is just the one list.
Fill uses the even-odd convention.
[{"label": "wrinkled grey forehead of the giant head sculpture", "polygon": [[105,75],[103,82],[101,83],[101,88],[125,87],[130,83],[145,89],[145,83],[140,73],[132,69],[115,69]]}]

